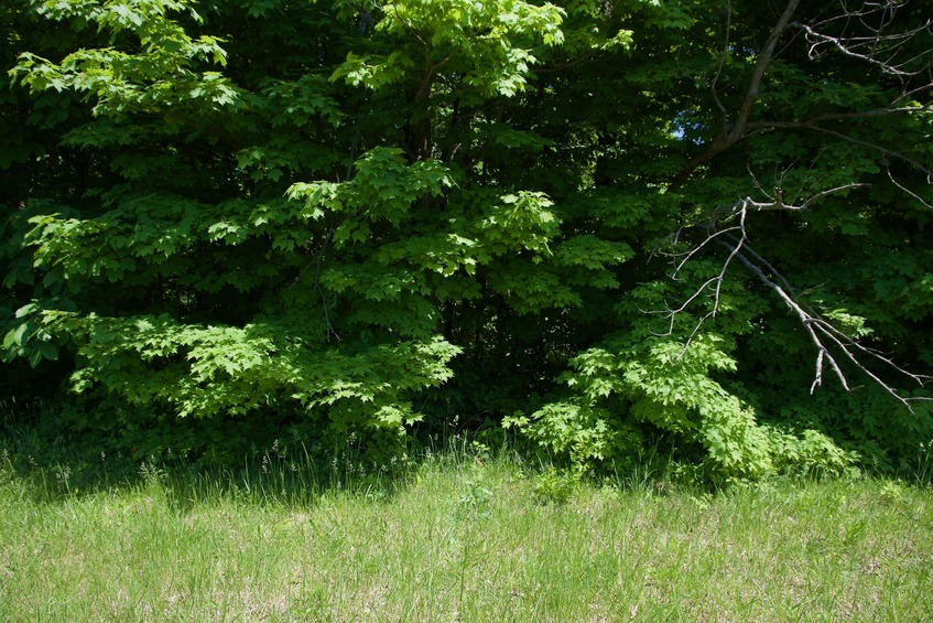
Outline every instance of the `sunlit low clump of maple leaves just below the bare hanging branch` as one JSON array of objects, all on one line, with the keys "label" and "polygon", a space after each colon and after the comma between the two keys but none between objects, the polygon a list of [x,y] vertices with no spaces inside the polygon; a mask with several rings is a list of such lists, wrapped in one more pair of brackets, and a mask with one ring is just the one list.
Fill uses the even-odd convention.
[{"label": "sunlit low clump of maple leaves just below the bare hanging branch", "polygon": [[725,474],[756,476],[772,469],[752,410],[709,377],[710,368],[735,366],[714,337],[697,339],[686,350],[677,342],[615,353],[595,348],[571,364],[564,380],[582,404],[552,404],[510,422],[575,462],[634,453],[638,431],[648,425],[701,444]]}]

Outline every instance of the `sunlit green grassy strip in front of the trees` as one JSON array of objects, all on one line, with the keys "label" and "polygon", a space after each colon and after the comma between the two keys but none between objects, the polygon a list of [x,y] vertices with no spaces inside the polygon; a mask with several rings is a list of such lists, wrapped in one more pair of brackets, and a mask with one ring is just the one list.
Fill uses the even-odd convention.
[{"label": "sunlit green grassy strip in front of the trees", "polygon": [[364,471],[78,491],[0,454],[0,621],[933,621],[929,487],[600,486],[469,452],[341,482]]}]

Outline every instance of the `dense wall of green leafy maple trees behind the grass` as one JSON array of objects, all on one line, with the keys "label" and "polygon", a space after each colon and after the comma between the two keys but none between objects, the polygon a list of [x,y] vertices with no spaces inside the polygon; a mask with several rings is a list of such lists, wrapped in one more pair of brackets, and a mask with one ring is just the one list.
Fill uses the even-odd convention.
[{"label": "dense wall of green leafy maple trees behind the grass", "polygon": [[578,466],[660,443],[729,476],[933,437],[922,2],[0,23],[0,365],[73,393],[76,427],[392,452],[459,417]]}]

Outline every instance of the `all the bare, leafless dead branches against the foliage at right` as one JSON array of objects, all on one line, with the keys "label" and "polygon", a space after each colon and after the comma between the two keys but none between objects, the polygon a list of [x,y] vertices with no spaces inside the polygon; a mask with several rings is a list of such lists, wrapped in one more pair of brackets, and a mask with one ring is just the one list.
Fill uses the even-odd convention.
[{"label": "all the bare, leafless dead branches against the foliage at right", "polygon": [[[727,6],[729,19],[726,23],[725,43],[715,76],[710,83],[713,101],[722,116],[723,128],[716,138],[701,148],[699,152],[674,176],[668,187],[669,192],[679,190],[699,167],[710,162],[744,138],[758,132],[780,129],[815,131],[871,149],[886,161],[899,160],[915,171],[923,172],[927,176],[927,181],[933,183],[933,170],[924,162],[920,162],[896,148],[892,149],[872,142],[870,139],[866,140],[848,133],[847,129],[839,126],[842,121],[859,122],[870,118],[929,114],[933,110],[933,101],[926,100],[920,104],[916,101],[916,99],[933,93],[933,47],[921,49],[923,46],[916,45],[920,41],[919,36],[925,35],[925,33],[933,34],[933,19],[926,19],[920,24],[903,25],[902,20],[899,17],[896,18],[896,15],[903,14],[901,11],[908,2],[909,0],[861,0],[860,2],[838,0],[835,10],[820,11],[806,19],[799,17],[795,21],[792,21],[800,2],[799,0],[789,0],[768,39],[757,53],[757,61],[751,75],[741,92],[744,94],[741,100],[731,115],[723,104],[718,93],[730,41],[729,28],[733,8],[729,2]],[[899,93],[896,96],[892,95],[891,100],[886,106],[869,110],[823,112],[809,119],[751,119],[752,108],[758,100],[766,73],[774,60],[786,50],[786,45],[794,41],[793,37],[788,36],[789,32],[796,33],[805,40],[806,52],[811,60],[823,58],[829,54],[842,54],[845,57],[857,60],[883,75],[900,80]],[[789,41],[789,43],[778,51],[777,46],[781,40]],[[691,230],[699,234],[698,241],[687,250],[670,254],[673,265],[671,277],[674,280],[679,278],[681,271],[690,261],[694,260],[701,251],[708,250],[710,246],[725,249],[727,255],[716,275],[706,279],[682,302],[673,305],[666,304],[666,309],[653,312],[663,315],[666,321],[666,332],[659,335],[672,335],[677,316],[687,312],[690,308],[697,307],[699,301],[705,301],[708,305],[707,311],[693,325],[681,353],[681,356],[683,356],[702,326],[708,320],[716,318],[728,271],[733,265],[738,262],[783,301],[798,318],[810,342],[815,347],[816,361],[811,394],[823,385],[824,374],[827,369],[836,376],[847,391],[850,391],[851,385],[846,376],[846,369],[850,372],[855,369],[867,375],[888,394],[910,408],[911,400],[921,398],[903,397],[872,368],[877,369],[877,365],[880,364],[885,369],[905,376],[920,387],[924,387],[930,377],[911,373],[896,364],[891,357],[859,343],[803,302],[789,280],[781,275],[772,262],[752,247],[749,239],[748,221],[751,213],[801,213],[810,210],[815,202],[822,198],[863,187],[866,184],[851,183],[821,190],[816,187],[818,181],[813,180],[813,186],[809,189],[799,187],[785,194],[781,186],[786,173],[788,171],[784,171],[780,175],[773,190],[767,190],[755,173],[749,170],[749,175],[751,175],[756,189],[756,196],[745,196],[735,203],[712,208],[696,222],[682,226],[671,237],[670,248],[673,249],[680,244],[681,235],[684,232]],[[890,167],[888,168],[888,176],[894,186],[920,201],[924,206],[933,208],[933,205],[927,201],[898,182]]]}]

